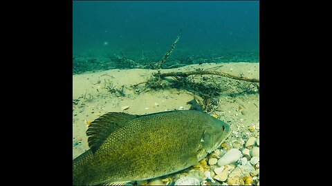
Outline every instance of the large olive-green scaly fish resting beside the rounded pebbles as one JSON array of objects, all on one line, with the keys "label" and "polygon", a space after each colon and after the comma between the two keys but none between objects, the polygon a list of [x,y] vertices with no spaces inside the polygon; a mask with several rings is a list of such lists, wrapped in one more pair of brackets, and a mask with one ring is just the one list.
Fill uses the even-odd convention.
[{"label": "large olive-green scaly fish resting beside the rounded pebbles", "polygon": [[124,185],[199,164],[230,125],[197,110],[109,112],[86,130],[89,149],[73,160],[73,185]]}]

